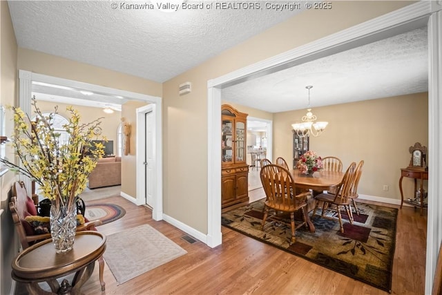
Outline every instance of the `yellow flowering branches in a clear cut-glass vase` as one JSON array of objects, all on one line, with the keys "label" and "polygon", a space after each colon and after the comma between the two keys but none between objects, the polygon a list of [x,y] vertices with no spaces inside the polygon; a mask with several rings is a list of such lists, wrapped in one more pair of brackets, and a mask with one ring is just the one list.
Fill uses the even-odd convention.
[{"label": "yellow flowering branches in a clear cut-glass vase", "polygon": [[[104,155],[104,146],[92,142],[93,130],[102,117],[88,124],[80,123],[79,113],[72,107],[66,108],[70,115],[61,131],[54,128],[55,111],[44,115],[32,98],[35,119],[31,120],[21,108],[12,107],[15,135],[11,137],[12,147],[20,164],[1,158],[11,170],[18,171],[39,184],[39,193],[51,201],[50,231],[57,252],[69,251],[73,247],[77,226],[76,202],[86,188],[88,175]],[[93,149],[91,149],[93,148]]]}]

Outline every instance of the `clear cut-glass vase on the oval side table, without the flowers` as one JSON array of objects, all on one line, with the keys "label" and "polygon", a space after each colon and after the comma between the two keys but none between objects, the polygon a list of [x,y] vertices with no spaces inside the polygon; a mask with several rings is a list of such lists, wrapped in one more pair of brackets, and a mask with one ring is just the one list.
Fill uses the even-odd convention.
[{"label": "clear cut-glass vase on the oval side table, without the flowers", "polygon": [[50,235],[57,253],[66,253],[73,248],[77,230],[77,207],[50,207]]}]

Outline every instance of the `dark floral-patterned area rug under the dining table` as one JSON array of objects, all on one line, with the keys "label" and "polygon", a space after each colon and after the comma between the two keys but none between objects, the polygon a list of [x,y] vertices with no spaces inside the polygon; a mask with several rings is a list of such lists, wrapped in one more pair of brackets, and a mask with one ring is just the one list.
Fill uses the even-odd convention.
[{"label": "dark floral-patterned area rug under the dining table", "polygon": [[[354,224],[316,217],[316,231],[296,230],[290,245],[291,228],[282,222],[266,222],[260,230],[264,200],[222,213],[222,225],[261,242],[278,247],[335,272],[391,292],[392,267],[398,209],[358,203],[361,214]],[[343,217],[347,217],[343,214]]]}]

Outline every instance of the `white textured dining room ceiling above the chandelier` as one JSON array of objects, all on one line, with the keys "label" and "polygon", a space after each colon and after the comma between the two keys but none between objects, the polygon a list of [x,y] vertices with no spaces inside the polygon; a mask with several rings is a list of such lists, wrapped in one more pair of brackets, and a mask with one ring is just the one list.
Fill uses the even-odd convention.
[{"label": "white textured dining room ceiling above the chandelier", "polygon": [[271,113],[428,90],[427,28],[316,59],[222,90],[224,100]]}]

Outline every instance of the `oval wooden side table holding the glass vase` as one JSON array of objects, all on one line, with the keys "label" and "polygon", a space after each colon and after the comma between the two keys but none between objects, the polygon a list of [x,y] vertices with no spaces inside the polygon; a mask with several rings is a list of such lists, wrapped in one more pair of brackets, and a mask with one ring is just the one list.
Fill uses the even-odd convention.
[{"label": "oval wooden side table holding the glass vase", "polygon": [[[52,239],[44,240],[24,249],[12,261],[12,278],[26,283],[29,294],[81,294],[80,288],[93,273],[95,260],[106,249],[106,236],[97,231],[78,231],[74,247],[64,254],[57,254]],[[57,278],[72,274],[71,283]],[[45,292],[39,282],[46,282],[51,292]]]}]

